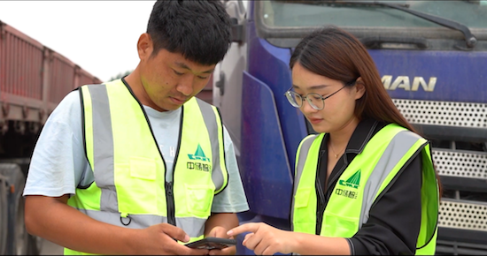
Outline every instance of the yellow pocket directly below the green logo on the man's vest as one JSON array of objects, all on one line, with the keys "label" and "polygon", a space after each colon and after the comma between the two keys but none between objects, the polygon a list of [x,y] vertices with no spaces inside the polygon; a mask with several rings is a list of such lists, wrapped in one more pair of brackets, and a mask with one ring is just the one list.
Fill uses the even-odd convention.
[{"label": "yellow pocket directly below the green logo on the man's vest", "polygon": [[186,184],[186,205],[189,213],[207,217],[211,213],[213,189],[205,185]]}]

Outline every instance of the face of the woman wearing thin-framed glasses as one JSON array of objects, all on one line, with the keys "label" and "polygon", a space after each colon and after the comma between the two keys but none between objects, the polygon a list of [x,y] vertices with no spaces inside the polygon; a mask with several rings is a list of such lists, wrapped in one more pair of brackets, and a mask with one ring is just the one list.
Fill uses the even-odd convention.
[{"label": "face of the woman wearing thin-framed glasses", "polygon": [[[357,120],[353,111],[355,101],[363,95],[364,90],[358,90],[358,87],[363,88],[362,85],[358,86],[356,83],[355,86],[344,87],[344,82],[310,72],[299,63],[294,64],[292,68],[292,84],[294,91],[303,98],[311,93],[320,94],[325,98],[338,91],[324,100],[324,108],[321,110],[313,109],[306,100],[303,101],[299,109],[314,131],[338,132]],[[344,88],[340,90],[342,87]]]}]

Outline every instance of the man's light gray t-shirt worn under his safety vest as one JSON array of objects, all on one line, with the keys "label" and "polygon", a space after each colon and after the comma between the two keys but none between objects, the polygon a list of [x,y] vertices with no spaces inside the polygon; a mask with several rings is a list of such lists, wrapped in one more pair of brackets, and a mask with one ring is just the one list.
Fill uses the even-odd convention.
[{"label": "man's light gray t-shirt worn under his safety vest", "polygon": [[[143,108],[166,161],[166,177],[172,178],[181,108],[166,112],[147,106]],[[215,196],[212,212],[243,212],[249,206],[243,192],[233,142],[227,129],[224,127],[223,130],[228,185]],[[93,180],[82,139],[80,94],[74,91],[66,95],[44,124],[30,162],[24,196],[73,195],[78,185],[86,186]]]}]

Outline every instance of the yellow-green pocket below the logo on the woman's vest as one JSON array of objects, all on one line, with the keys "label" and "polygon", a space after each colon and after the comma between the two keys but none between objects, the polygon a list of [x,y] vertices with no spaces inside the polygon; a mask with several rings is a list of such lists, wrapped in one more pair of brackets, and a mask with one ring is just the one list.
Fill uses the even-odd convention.
[{"label": "yellow-green pocket below the logo on the woman's vest", "polygon": [[359,230],[359,218],[327,213],[325,210],[321,234],[328,237],[350,238]]}]

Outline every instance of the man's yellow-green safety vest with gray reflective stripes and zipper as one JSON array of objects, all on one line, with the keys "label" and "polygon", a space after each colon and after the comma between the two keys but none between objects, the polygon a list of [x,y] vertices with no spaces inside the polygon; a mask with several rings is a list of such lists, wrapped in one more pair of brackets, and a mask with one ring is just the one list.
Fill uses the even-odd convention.
[{"label": "man's yellow-green safety vest with gray reflective stripes and zipper", "polygon": [[[218,109],[193,97],[182,105],[173,182],[143,106],[120,80],[80,88],[83,139],[95,181],[68,205],[91,218],[143,229],[168,222],[190,241],[204,237],[214,194],[228,183]],[[81,254],[65,248],[65,254]],[[85,253],[82,253],[85,254]]]}]

